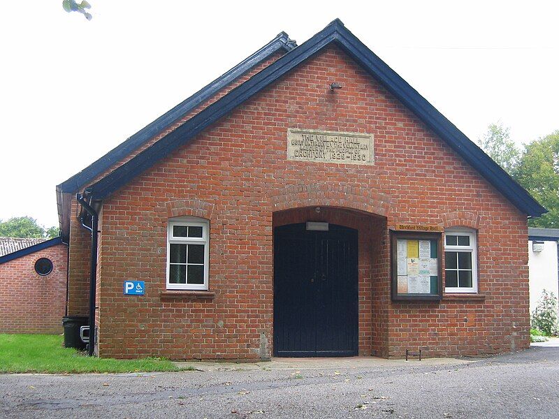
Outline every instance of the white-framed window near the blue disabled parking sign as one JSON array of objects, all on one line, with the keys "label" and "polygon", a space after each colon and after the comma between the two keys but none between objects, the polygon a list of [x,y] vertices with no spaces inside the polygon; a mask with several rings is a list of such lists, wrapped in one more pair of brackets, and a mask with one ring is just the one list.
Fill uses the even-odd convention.
[{"label": "white-framed window near the blue disabled parking sign", "polygon": [[167,289],[207,290],[210,223],[205,219],[169,219],[167,229]]}]

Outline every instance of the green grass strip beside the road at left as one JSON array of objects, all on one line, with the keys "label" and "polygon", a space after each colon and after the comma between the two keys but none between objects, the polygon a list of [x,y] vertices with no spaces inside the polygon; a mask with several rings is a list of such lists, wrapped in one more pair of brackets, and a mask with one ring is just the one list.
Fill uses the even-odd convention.
[{"label": "green grass strip beside the road at left", "polygon": [[115,360],[89,357],[73,348],[64,348],[62,342],[60,335],[0,334],[0,373],[180,371],[169,360],[159,358]]}]

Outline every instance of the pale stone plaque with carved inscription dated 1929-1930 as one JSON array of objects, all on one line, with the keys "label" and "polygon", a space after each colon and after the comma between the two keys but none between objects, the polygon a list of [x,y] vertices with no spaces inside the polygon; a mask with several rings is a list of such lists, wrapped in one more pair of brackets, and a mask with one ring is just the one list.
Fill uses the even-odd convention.
[{"label": "pale stone plaque with carved inscription dated 1929-1930", "polygon": [[287,159],[373,164],[372,134],[287,129]]}]

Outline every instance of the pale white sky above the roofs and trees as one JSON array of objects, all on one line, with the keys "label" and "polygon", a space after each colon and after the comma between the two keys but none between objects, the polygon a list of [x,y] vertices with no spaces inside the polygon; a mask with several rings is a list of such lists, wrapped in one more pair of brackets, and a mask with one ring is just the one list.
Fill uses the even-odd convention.
[{"label": "pale white sky above the roofs and trees", "polygon": [[58,224],[55,186],[280,31],[300,45],[339,17],[478,140],[559,129],[556,1],[61,0],[0,5],[0,219]]}]

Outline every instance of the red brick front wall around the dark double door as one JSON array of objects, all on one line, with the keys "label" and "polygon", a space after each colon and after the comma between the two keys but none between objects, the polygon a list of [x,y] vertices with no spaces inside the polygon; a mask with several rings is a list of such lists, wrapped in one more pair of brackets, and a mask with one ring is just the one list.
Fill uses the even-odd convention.
[{"label": "red brick front wall around the dark double door", "polygon": [[[333,81],[343,88],[330,91]],[[375,165],[287,161],[287,128],[372,133]],[[273,221],[279,212],[314,206],[361,212],[370,221],[363,227],[370,229],[370,250],[359,258],[361,353],[399,357],[421,347],[427,355],[458,355],[528,346],[525,215],[330,47],[106,199],[99,354],[254,360],[265,348],[270,355]],[[215,297],[160,295],[168,217],[187,215],[210,220]],[[388,228],[395,223],[476,228],[484,297],[392,303]],[[122,295],[126,279],[145,281],[146,294]]]}]

